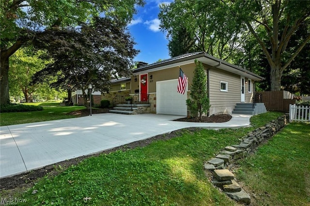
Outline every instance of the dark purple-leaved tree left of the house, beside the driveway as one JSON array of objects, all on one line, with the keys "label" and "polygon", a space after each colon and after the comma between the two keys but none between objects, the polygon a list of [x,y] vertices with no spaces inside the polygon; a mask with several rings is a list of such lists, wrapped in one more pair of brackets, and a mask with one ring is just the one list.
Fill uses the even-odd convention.
[{"label": "dark purple-leaved tree left of the house, beside the driveway", "polygon": [[52,87],[81,89],[85,102],[89,84],[94,90],[109,91],[110,79],[129,75],[138,54],[126,24],[109,17],[95,17],[79,29],[50,29],[33,44],[46,48],[54,60],[34,75],[34,82],[56,76]]}]

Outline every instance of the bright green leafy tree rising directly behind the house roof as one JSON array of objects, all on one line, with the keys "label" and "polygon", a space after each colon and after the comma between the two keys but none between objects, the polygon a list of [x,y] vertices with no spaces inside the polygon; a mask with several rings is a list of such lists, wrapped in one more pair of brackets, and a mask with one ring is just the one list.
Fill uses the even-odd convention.
[{"label": "bright green leafy tree rising directly behind the house roof", "polygon": [[[239,45],[242,24],[220,9],[221,1],[175,0],[160,7],[160,27],[167,31],[171,56],[204,51],[228,59]],[[182,47],[182,48],[180,48]]]}]

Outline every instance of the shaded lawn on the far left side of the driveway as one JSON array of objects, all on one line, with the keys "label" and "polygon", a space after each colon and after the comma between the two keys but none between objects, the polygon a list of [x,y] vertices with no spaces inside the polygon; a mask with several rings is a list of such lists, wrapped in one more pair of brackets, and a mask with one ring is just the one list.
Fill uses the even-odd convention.
[{"label": "shaded lawn on the far left side of the driveway", "polygon": [[44,110],[36,112],[0,113],[0,126],[65,119],[65,118],[77,118],[79,117],[78,115],[67,115],[67,113],[86,108],[85,106],[53,106],[53,103],[52,105],[51,103],[30,103],[30,104],[31,105],[45,104]]}]

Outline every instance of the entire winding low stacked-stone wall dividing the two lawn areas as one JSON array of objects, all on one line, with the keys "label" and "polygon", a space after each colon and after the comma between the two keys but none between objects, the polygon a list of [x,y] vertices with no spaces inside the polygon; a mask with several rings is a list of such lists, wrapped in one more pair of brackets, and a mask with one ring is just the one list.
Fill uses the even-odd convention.
[{"label": "entire winding low stacked-stone wall dividing the two lawn areas", "polygon": [[249,194],[236,182],[229,170],[236,160],[246,158],[269,138],[275,135],[286,124],[286,116],[272,120],[265,126],[249,132],[240,139],[239,145],[230,145],[220,151],[217,156],[204,164],[204,169],[212,173],[212,183],[229,197],[241,204],[250,204]]}]

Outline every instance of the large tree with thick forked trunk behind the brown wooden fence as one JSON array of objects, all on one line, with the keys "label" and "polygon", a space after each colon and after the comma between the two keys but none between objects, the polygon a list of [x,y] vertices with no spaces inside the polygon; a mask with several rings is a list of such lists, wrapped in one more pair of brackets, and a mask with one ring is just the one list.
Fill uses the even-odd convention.
[{"label": "large tree with thick forked trunk behind the brown wooden fence", "polygon": [[[238,0],[226,6],[232,16],[247,25],[263,50],[270,67],[270,89],[280,90],[283,72],[310,41],[310,1]],[[303,24],[308,34],[292,43],[291,37]]]}]

